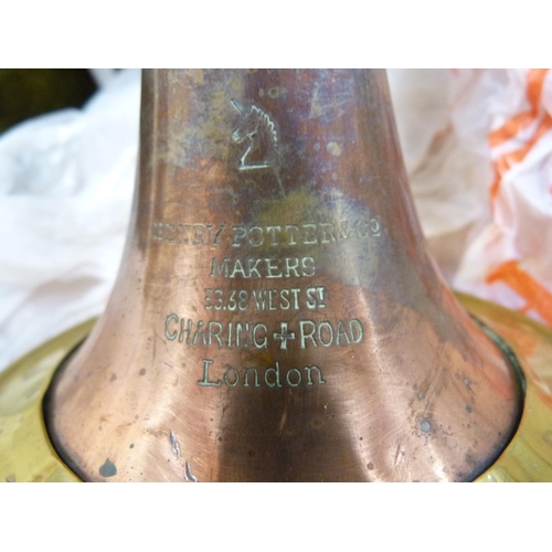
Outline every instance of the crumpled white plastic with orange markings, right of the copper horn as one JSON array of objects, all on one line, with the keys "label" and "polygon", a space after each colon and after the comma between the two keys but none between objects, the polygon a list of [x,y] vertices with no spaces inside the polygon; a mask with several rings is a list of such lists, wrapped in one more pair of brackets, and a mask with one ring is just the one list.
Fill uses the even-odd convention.
[{"label": "crumpled white plastic with orange markings, right of the copper horn", "polygon": [[552,326],[552,71],[397,70],[390,81],[448,283]]}]

